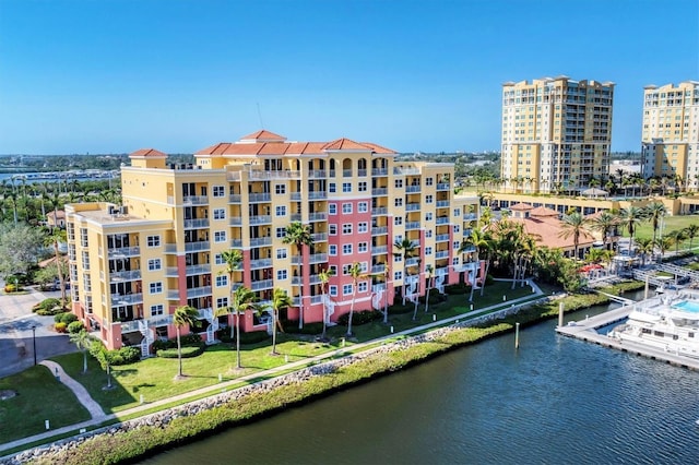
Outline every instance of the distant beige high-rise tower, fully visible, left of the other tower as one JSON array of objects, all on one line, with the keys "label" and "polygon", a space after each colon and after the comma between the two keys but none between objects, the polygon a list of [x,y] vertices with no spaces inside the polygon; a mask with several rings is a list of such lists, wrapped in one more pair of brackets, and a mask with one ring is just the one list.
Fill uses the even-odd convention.
[{"label": "distant beige high-rise tower, fully visible, left of the other tower", "polygon": [[608,176],[614,83],[566,76],[502,84],[508,192],[579,191]]}]

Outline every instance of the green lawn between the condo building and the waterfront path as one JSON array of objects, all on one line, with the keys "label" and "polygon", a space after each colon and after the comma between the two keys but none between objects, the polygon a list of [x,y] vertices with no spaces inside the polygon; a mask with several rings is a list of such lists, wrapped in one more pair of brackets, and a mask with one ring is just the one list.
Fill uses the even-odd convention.
[{"label": "green lawn between the condo building and the waterfront path", "polygon": [[[529,286],[523,288],[518,286],[514,290],[510,289],[510,286],[511,284],[506,282],[487,285],[483,297],[476,290],[473,302],[474,310],[502,303],[502,296],[507,296],[508,301],[518,297],[535,298]],[[390,313],[388,325],[381,321],[354,325],[355,336],[346,341],[346,348],[351,350],[354,344],[390,335],[391,326],[393,326],[393,332],[398,333],[433,322],[433,314],[437,315],[437,320],[441,320],[469,312],[471,306],[467,299],[467,293],[450,295],[445,302],[430,303],[429,313],[425,313],[424,305],[420,305],[417,321],[412,320],[413,308],[411,306],[405,309],[404,313]],[[244,345],[241,347],[242,370],[234,369],[235,346],[213,345],[208,347],[204,354],[182,360],[183,372],[187,374],[187,379],[182,381],[174,380],[178,365],[176,358],[153,357],[132,365],[112,367],[114,389],[108,391],[103,389],[107,383],[106,373],[92,357],[87,359],[86,374],[82,373],[82,354],[69,354],[52,359],[59,362],[72,378],[82,383],[106,413],[116,413],[139,405],[141,395],[146,403],[159,401],[217,384],[220,374],[223,381],[230,381],[245,374],[282,366],[286,360],[291,362],[336,350],[341,347],[345,333],[346,326],[344,325],[330,327],[328,330],[330,343],[317,342],[316,337],[311,335],[279,334],[277,351],[281,354],[280,356],[270,355],[271,337],[262,343]],[[8,419],[11,418],[13,425],[20,424],[21,428],[2,428],[0,443],[43,432],[44,418],[56,418],[51,420],[52,428],[88,419],[87,413],[78,404],[70,391],[59,384],[44,367],[36,367],[14,377],[1,379],[0,386],[2,385],[21,386],[22,395],[2,401],[0,404],[0,407],[3,408],[0,412],[0,425],[8,425]],[[37,402],[36,400],[50,400],[50,402]],[[37,418],[40,421],[37,421]]]}]

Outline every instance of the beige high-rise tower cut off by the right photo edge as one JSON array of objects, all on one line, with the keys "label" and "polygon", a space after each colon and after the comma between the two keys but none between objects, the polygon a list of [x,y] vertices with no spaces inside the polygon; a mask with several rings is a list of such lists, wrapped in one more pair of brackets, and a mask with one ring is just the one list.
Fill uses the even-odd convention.
[{"label": "beige high-rise tower cut off by the right photo edge", "polygon": [[643,91],[643,178],[670,178],[699,189],[699,82]]}]

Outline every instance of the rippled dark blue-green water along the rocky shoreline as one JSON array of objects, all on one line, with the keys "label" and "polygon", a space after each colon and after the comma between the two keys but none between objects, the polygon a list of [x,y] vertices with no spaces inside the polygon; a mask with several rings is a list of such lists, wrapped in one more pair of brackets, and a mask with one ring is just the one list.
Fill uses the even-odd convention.
[{"label": "rippled dark blue-green water along the rocky shoreline", "polygon": [[503,335],[143,463],[699,462],[699,373],[555,324],[521,331],[519,350]]}]

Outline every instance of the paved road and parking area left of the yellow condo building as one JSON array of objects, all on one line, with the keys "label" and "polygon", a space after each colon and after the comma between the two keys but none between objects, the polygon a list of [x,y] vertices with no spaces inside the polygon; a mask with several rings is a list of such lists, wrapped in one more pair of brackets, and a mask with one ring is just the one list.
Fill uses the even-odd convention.
[{"label": "paved road and parking area left of the yellow condo building", "polygon": [[[51,331],[54,317],[32,313],[32,307],[60,293],[0,295],[0,378],[17,373],[34,365],[34,344],[37,362],[56,355],[75,351],[66,334]],[[36,326],[36,338],[32,326]]]}]

